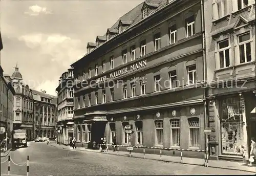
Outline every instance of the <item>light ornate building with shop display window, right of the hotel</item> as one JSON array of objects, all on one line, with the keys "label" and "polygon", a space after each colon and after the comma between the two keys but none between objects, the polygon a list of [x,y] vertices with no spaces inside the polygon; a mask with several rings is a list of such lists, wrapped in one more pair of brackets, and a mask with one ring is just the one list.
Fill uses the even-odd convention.
[{"label": "light ornate building with shop display window, right of the hotel", "polygon": [[210,156],[242,160],[255,136],[255,1],[204,0]]}]

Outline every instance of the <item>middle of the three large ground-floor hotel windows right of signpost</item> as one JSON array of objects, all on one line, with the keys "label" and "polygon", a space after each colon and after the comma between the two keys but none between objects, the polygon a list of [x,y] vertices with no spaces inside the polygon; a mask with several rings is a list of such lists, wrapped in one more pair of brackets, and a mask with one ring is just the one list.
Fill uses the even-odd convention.
[{"label": "middle of the three large ground-floor hotel windows right of signpost", "polygon": [[170,120],[170,145],[180,146],[180,120]]}]

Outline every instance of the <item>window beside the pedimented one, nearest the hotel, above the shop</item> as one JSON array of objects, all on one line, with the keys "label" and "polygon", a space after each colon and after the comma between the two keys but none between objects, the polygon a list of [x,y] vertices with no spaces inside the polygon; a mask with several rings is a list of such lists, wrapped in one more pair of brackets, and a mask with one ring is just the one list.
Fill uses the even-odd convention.
[{"label": "window beside the pedimented one, nearest the hotel, above the shop", "polygon": [[230,60],[229,60],[229,41],[228,39],[219,42],[219,61],[220,61],[220,68],[226,68],[229,67],[230,65]]}]

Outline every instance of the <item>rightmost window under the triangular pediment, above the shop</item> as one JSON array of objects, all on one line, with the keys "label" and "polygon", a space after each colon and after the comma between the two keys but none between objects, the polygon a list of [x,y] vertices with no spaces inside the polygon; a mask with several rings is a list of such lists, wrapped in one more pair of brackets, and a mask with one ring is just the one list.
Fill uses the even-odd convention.
[{"label": "rightmost window under the triangular pediment, above the shop", "polygon": [[245,33],[238,36],[238,45],[239,45],[239,56],[240,63],[250,62],[251,61],[251,41],[250,33]]}]

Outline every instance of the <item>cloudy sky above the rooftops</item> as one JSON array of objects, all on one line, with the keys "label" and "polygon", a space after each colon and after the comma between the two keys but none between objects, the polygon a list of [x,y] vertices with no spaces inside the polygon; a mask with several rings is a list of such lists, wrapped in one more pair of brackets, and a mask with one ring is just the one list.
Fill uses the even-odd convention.
[{"label": "cloudy sky above the rooftops", "polygon": [[31,89],[56,95],[60,75],[86,54],[87,42],[141,2],[0,1],[4,73],[12,75],[17,62]]}]

